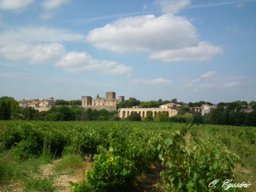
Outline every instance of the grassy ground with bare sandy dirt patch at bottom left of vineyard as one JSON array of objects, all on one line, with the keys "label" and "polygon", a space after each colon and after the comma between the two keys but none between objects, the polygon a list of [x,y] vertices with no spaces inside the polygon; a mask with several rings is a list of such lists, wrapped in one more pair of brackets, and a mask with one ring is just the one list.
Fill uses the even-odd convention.
[{"label": "grassy ground with bare sandy dirt patch at bottom left of vineyard", "polygon": [[54,160],[47,143],[44,145],[42,155],[37,158],[32,156],[17,161],[16,155],[16,148],[0,153],[0,191],[2,192],[52,192],[59,183],[69,187],[70,180],[63,180],[63,176],[69,175],[68,179],[85,183],[85,171],[92,170],[91,162],[84,161],[82,156],[70,151],[65,151],[61,159]]}]

